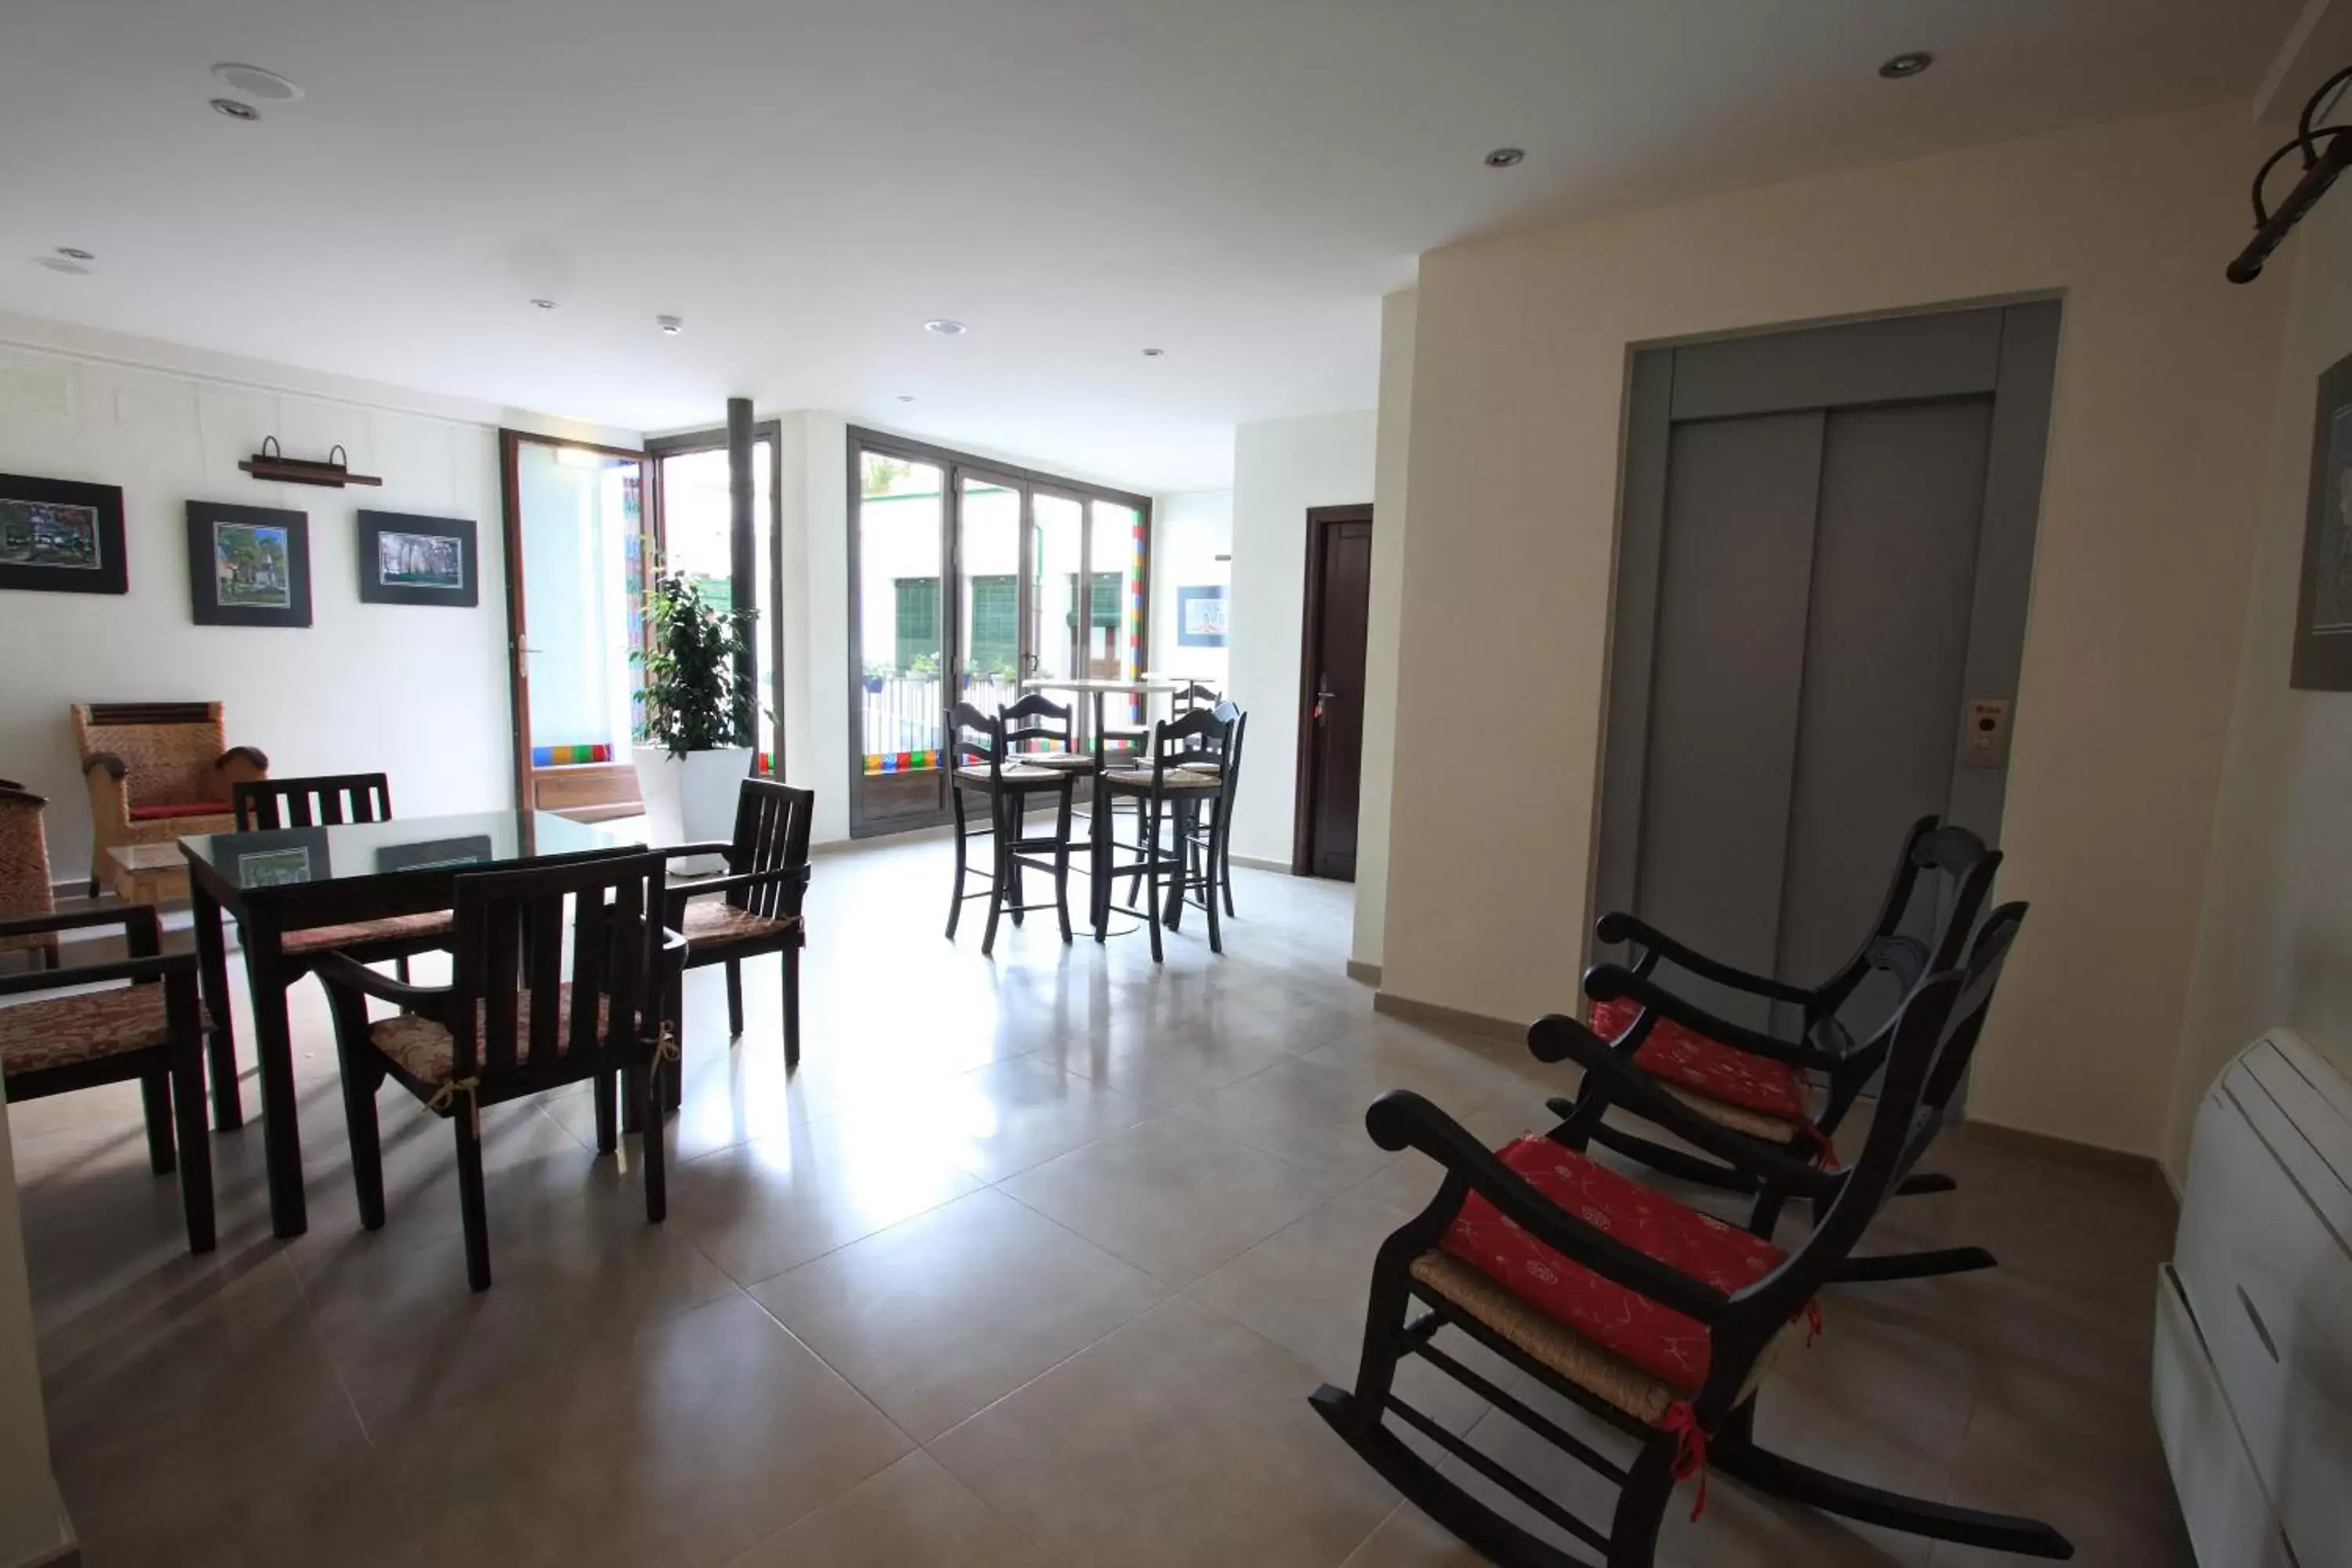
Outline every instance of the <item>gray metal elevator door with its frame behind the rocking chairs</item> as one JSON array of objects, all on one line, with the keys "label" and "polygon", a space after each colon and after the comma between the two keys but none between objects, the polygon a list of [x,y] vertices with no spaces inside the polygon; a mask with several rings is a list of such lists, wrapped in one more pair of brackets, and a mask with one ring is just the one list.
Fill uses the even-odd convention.
[{"label": "gray metal elevator door with its frame behind the rocking chairs", "polygon": [[[2016,691],[2053,350],[2056,306],[2018,306],[1637,362],[1602,910],[1813,983],[1912,820],[1997,842],[1999,773],[1959,766],[1962,712]],[[1875,978],[1849,1023],[1891,1004]]]}]

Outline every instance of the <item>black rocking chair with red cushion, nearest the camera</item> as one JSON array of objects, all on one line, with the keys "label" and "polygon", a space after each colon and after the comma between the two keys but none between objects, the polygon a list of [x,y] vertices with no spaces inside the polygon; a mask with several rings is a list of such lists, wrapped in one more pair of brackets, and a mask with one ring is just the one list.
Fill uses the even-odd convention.
[{"label": "black rocking chair with red cushion, nearest the camera", "polygon": [[[1860,1486],[1755,1441],[1755,1401],[1790,1335],[1818,1333],[1816,1295],[1933,1138],[1931,1084],[1952,1074],[1992,999],[2016,933],[2011,910],[1987,922],[1966,971],[1929,976],[1903,1001],[1879,1110],[1853,1168],[1795,1251],[1651,1192],[1550,1138],[1486,1152],[1416,1093],[1392,1091],[1364,1117],[1383,1150],[1421,1150],[1446,1180],[1397,1229],[1371,1274],[1371,1307],[1355,1387],[1324,1385],[1317,1413],[1430,1519],[1505,1568],[1576,1568],[1571,1556],[1442,1474],[1390,1427],[1395,1415],[1517,1497],[1606,1568],[1649,1568],[1677,1481],[1705,1469],[1830,1514],[2025,1556],[2072,1556],[2046,1523],[1903,1497]],[[1538,1025],[1541,1027],[1541,1025]],[[1414,1302],[1428,1307],[1411,1316]],[[1637,1441],[1611,1460],[1529,1408],[1439,1345],[1446,1331]],[[1835,1345],[1835,1340],[1832,1340]],[[1501,1415],[1618,1488],[1606,1528],[1569,1512],[1472,1448],[1395,1389],[1404,1356],[1421,1356]]]}]

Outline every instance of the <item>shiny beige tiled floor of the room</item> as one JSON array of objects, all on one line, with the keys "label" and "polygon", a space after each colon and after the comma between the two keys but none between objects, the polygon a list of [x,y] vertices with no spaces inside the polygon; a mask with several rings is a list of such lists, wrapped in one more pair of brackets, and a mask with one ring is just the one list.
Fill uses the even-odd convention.
[{"label": "shiny beige tiled floor of the room", "polygon": [[[1468,1563],[1308,1410],[1355,1371],[1371,1253],[1435,1192],[1362,1131],[1409,1086],[1503,1140],[1559,1084],[1374,1016],[1348,889],[1240,872],[1197,931],[1063,950],[938,938],[943,846],[818,860],[807,1063],[774,966],[729,1046],[689,983],[670,1220],[590,1154],[586,1095],[487,1121],[496,1286],[466,1291],[447,1128],[386,1091],[390,1225],[350,1197],[325,1006],[296,992],[310,1234],[268,1237],[259,1133],[214,1138],[221,1251],[181,1251],[136,1093],[9,1112],[59,1481],[127,1563]],[[249,1067],[249,1060],[247,1060]],[[254,1105],[247,1072],[247,1107]],[[2082,1563],[2187,1563],[2147,1418],[2161,1204],[2096,1166],[1950,1140],[1952,1197],[1886,1241],[1994,1274],[1839,1293],[1759,1432],[1882,1486],[2034,1509]],[[1526,1389],[1505,1366],[1482,1368]],[[1592,1497],[1428,1368],[1479,1448]],[[1590,1427],[1576,1418],[1578,1425]],[[1717,1481],[1661,1561],[1976,1554]]]}]

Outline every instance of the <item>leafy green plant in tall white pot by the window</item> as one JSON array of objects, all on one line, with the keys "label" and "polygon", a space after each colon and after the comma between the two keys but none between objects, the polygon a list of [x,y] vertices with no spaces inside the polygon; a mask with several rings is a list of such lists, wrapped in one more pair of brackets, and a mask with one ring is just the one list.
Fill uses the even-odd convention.
[{"label": "leafy green plant in tall white pot by the window", "polygon": [[637,795],[659,844],[727,839],[739,780],[753,769],[753,705],[736,656],[757,611],[729,611],[682,571],[644,592],[644,646],[630,654],[637,689]]}]

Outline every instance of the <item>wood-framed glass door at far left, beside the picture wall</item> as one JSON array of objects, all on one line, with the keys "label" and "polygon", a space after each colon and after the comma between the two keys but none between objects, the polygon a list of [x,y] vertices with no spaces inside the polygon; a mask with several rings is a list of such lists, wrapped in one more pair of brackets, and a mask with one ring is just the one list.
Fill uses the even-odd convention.
[{"label": "wood-framed glass door at far left, beside the picture wall", "polygon": [[503,430],[515,797],[593,820],[637,813],[647,456]]}]

